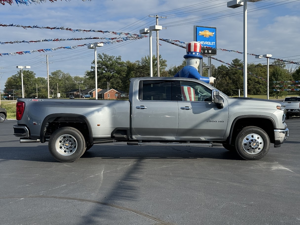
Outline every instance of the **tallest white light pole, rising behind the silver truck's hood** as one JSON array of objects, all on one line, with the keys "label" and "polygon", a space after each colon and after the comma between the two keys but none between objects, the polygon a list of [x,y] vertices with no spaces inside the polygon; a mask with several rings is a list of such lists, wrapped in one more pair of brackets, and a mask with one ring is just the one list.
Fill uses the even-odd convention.
[{"label": "tallest white light pole, rising behind the silver truck's hood", "polygon": [[244,5],[244,97],[247,97],[247,1],[261,0],[232,0],[227,2],[227,7],[237,8]]}]

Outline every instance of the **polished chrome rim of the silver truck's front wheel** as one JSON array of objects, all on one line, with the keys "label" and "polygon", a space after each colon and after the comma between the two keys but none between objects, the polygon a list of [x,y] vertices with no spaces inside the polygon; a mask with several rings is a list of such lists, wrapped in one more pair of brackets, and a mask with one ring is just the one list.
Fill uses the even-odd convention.
[{"label": "polished chrome rim of the silver truck's front wheel", "polygon": [[248,154],[254,155],[262,151],[263,140],[258,134],[247,134],[243,139],[243,149]]}]

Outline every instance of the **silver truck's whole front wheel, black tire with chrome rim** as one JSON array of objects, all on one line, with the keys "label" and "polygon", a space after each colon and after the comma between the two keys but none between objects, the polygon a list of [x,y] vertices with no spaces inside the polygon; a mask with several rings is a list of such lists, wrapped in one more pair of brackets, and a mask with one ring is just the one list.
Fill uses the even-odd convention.
[{"label": "silver truck's whole front wheel, black tire with chrome rim", "polygon": [[245,127],[236,137],[235,147],[241,158],[245,160],[259,160],[268,153],[270,138],[259,127]]}]

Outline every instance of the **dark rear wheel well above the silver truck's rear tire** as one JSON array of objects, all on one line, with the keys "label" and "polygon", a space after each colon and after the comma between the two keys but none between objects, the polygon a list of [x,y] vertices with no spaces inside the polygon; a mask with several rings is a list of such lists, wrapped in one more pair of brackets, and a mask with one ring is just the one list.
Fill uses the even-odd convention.
[{"label": "dark rear wheel well above the silver truck's rear tire", "polygon": [[62,127],[73,127],[79,130],[85,142],[87,144],[93,142],[93,137],[91,133],[91,127],[87,120],[83,116],[74,117],[74,116],[56,116],[56,117],[47,117],[42,125],[44,132],[41,131],[41,142],[44,143],[49,140],[51,134],[59,128]]}]

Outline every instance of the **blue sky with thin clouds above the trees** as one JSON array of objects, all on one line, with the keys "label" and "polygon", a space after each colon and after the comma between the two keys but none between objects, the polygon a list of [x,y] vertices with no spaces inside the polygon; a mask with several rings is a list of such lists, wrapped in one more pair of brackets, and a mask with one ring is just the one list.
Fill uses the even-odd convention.
[{"label": "blue sky with thin clouds above the trees", "polygon": [[[129,32],[138,34],[142,28],[155,25],[155,18],[149,15],[167,16],[160,19],[159,24],[167,29],[159,32],[164,39],[193,41],[193,26],[209,26],[217,28],[217,47],[243,52],[243,7],[231,9],[227,1],[191,1],[191,0],[71,0],[50,1],[44,4],[13,5],[0,4],[0,23],[20,24],[24,26],[65,27],[72,29],[95,29],[113,32]],[[173,10],[173,11],[172,11]],[[176,10],[176,11],[174,11]],[[223,11],[223,12],[222,12]],[[254,54],[272,54],[274,58],[300,61],[300,1],[295,0],[262,0],[248,3],[248,52]],[[232,14],[233,13],[233,14]],[[219,16],[219,17],[217,17]],[[192,19],[199,17],[198,19]],[[183,24],[186,23],[186,24]],[[153,54],[156,54],[155,33],[153,35]],[[50,29],[23,29],[17,27],[1,27],[0,41],[36,41],[54,38],[115,38],[95,32],[70,32]],[[124,37],[124,36],[121,36]],[[100,41],[100,40],[98,40]],[[4,44],[0,53],[19,52],[35,49],[56,48],[94,43],[97,40],[61,41],[41,43]],[[185,49],[160,41],[159,52],[167,59],[168,66],[179,65],[185,55]],[[149,38],[137,41],[126,41],[98,48],[98,53],[121,55],[122,60],[136,61],[149,55]],[[44,54],[51,55],[49,72],[62,70],[72,76],[83,76],[90,70],[94,59],[94,50],[86,46],[77,49],[62,49],[47,53],[35,52],[25,55],[4,55],[0,57],[0,84],[4,88],[8,77],[16,74],[17,65],[31,66],[37,76],[46,77],[46,61]],[[243,59],[242,54],[218,51],[216,58],[230,63],[234,58]],[[261,61],[248,56],[248,62]],[[273,60],[270,60],[272,62]],[[212,60],[216,66],[221,63]],[[291,66],[289,64],[289,66]]]}]

